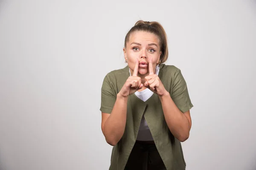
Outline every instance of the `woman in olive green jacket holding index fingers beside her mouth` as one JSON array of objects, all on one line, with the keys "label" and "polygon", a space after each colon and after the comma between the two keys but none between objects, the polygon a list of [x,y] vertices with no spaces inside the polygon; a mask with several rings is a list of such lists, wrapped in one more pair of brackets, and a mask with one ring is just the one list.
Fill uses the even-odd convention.
[{"label": "woman in olive green jacket holding index fingers beside her mouth", "polygon": [[102,132],[113,146],[110,170],[185,170],[180,142],[193,107],[178,68],[165,65],[160,23],[138,21],[125,37],[125,68],[102,84]]}]

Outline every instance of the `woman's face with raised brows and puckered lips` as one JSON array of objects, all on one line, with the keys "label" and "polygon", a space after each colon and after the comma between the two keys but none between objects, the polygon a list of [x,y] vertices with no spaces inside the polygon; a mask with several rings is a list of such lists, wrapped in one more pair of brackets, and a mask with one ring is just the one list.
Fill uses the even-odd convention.
[{"label": "woman's face with raised brows and puckered lips", "polygon": [[145,31],[135,31],[123,49],[125,60],[131,70],[134,71],[136,59],[139,60],[138,76],[148,75],[148,62],[152,57],[153,69],[155,71],[157,62],[160,59],[160,40],[157,35]]}]

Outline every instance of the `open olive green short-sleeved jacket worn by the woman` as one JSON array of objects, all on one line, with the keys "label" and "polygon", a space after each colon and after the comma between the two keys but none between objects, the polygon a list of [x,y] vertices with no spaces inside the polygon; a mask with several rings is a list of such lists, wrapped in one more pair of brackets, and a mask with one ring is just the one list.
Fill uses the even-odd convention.
[{"label": "open olive green short-sleeved jacket worn by the woman", "polygon": [[[185,79],[180,69],[173,65],[159,65],[158,77],[177,107],[185,113],[193,105]],[[105,76],[102,84],[102,100],[100,111],[111,113],[116,95],[130,76],[129,67],[114,70]],[[109,170],[124,170],[128,157],[137,139],[140,121],[143,116],[153,136],[157,150],[167,170],[185,170],[186,163],[180,141],[170,132],[163,114],[162,105],[157,94],[153,94],[143,102],[135,94],[128,97],[125,132],[120,141],[113,147]]]}]

